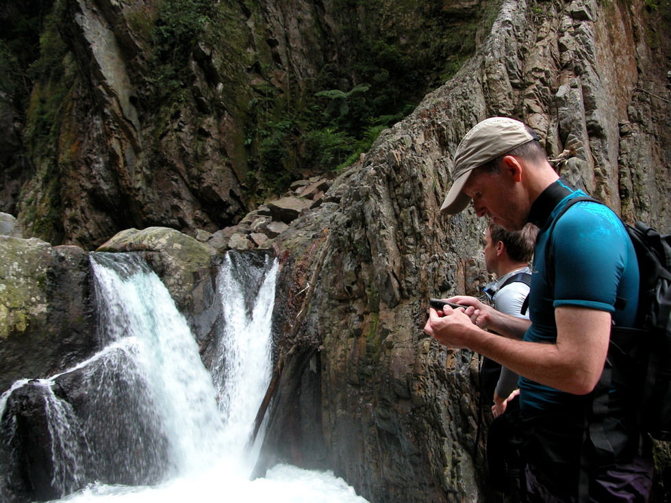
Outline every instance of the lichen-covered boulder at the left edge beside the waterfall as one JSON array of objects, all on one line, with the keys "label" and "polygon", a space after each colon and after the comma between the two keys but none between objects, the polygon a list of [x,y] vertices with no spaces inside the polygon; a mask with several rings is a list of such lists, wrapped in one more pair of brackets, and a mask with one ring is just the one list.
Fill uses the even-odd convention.
[{"label": "lichen-covered boulder at the left edge beside the waterfall", "polygon": [[86,251],[0,235],[0,393],[94,352],[89,292]]}]

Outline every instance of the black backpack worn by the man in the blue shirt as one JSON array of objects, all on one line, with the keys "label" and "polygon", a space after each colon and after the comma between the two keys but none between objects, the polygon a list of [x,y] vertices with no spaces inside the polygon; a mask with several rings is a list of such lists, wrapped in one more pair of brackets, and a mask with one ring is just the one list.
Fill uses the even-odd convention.
[{"label": "black backpack worn by the man in the blue shirt", "polygon": [[[564,206],[555,222],[569,207],[579,201],[600,203],[591,197],[573,198]],[[636,250],[640,270],[637,326],[636,328],[615,326],[611,331],[607,365],[594,392],[593,417],[598,418],[599,415],[607,414],[607,393],[599,394],[598,390],[607,392],[609,389],[611,373],[617,371],[613,366],[629,363],[644,365],[643,389],[640,395],[641,426],[644,432],[653,438],[669,441],[671,440],[671,235],[660,234],[642,222],[636,222],[635,225],[622,223]],[[624,299],[618,299],[618,302],[623,301]],[[627,361],[626,355],[629,354],[635,355],[636,361]],[[594,440],[592,438],[592,441]]]}]

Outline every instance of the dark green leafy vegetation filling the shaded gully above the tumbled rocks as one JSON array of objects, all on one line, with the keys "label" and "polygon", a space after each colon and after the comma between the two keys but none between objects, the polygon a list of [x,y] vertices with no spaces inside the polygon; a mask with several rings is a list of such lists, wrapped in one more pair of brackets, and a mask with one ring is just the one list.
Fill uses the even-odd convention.
[{"label": "dark green leafy vegetation filling the shaded gully above the tumbled rocks", "polygon": [[[383,129],[402,120],[429,90],[461,68],[475,49],[479,18],[498,12],[494,3],[483,2],[477,16],[472,12],[455,20],[441,2],[417,8],[343,0],[340,8],[352,12],[384,4],[398,16],[392,21],[398,23],[396,32],[352,29],[346,35],[353,51],[350,64],[325,64],[308,82],[304,102],[294,108],[279,99],[279,88],[257,86],[246,133],[246,145],[258,159],[251,164],[252,179],[282,192],[296,177],[337,172],[355,162]],[[403,16],[416,16],[417,9],[426,29],[403,31]]]}]

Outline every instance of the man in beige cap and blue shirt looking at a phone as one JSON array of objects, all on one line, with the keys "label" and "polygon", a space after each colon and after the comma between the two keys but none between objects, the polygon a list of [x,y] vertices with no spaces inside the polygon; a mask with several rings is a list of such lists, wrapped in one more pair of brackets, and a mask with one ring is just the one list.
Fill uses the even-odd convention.
[{"label": "man in beige cap and blue shirt looking at a phone", "polygon": [[531,432],[522,453],[529,501],[646,501],[652,462],[631,405],[635,391],[609,381],[603,396],[617,407],[609,405],[598,424],[593,419],[611,325],[634,326],[638,302],[635,251],[620,219],[592,201],[562,213],[585,194],[559,178],[535,133],[510,118],[488,118],[466,133],[455,151],[453,181],[444,214],[472,201],[477,216],[509,231],[528,222],[540,229],[531,320],[456,296],[448,300],[466,309],[430,309],[425,331],[520,375],[520,409]]}]

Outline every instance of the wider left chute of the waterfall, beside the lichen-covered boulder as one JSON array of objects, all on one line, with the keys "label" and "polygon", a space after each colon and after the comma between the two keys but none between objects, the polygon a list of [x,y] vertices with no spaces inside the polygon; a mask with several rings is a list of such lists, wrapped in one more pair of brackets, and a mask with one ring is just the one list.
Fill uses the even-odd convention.
[{"label": "wider left chute of the waterfall, beside the lichen-covered boulder", "polygon": [[186,319],[159,277],[138,255],[95,254],[102,341],[134,337],[136,372],[148,388],[143,407],[158,415],[177,474],[212,465],[223,422],[216,389]]}]

